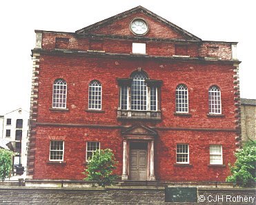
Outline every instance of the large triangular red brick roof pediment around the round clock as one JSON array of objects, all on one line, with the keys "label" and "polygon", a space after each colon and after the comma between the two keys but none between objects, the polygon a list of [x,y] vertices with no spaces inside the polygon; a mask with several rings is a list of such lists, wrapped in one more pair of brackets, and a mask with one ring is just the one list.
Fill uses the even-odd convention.
[{"label": "large triangular red brick roof pediment around the round clock", "polygon": [[[144,35],[136,35],[130,30],[130,23],[134,19],[144,19],[148,23],[148,32]],[[159,17],[157,14],[142,6],[137,6],[121,14],[89,25],[77,30],[78,35],[104,35],[104,36],[128,36],[151,39],[179,39],[201,41],[197,36],[190,34],[179,26]]]}]

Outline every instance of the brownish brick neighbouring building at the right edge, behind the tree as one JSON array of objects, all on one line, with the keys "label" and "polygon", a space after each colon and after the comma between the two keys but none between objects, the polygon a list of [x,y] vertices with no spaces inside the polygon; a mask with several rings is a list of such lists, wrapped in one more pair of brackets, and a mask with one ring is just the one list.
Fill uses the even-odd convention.
[{"label": "brownish brick neighbouring building at the right edge, behind the tree", "polygon": [[256,100],[241,98],[242,142],[256,140]]}]

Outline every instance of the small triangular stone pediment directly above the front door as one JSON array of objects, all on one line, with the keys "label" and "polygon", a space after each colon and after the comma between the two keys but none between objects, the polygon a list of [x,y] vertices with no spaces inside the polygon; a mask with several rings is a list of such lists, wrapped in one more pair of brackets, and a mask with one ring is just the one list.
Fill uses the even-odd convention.
[{"label": "small triangular stone pediment directly above the front door", "polygon": [[124,136],[157,136],[157,131],[145,125],[133,125],[121,132]]}]

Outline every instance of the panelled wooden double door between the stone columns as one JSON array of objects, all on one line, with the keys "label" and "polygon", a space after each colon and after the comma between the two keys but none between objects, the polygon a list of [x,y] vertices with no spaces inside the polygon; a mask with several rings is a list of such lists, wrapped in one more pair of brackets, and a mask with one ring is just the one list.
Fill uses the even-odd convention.
[{"label": "panelled wooden double door between the stone columns", "polygon": [[130,150],[130,180],[146,181],[147,151],[144,149]]}]

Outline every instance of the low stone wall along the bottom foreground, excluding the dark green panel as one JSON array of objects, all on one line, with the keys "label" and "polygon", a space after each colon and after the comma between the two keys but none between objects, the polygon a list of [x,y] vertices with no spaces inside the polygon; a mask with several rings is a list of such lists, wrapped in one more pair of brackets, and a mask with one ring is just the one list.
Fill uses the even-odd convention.
[{"label": "low stone wall along the bottom foreground, excluding the dark green panel", "polygon": [[[210,200],[220,196],[219,204],[226,203],[226,195],[254,197],[253,188],[199,188],[198,195]],[[211,195],[212,197],[208,197]],[[223,202],[221,202],[221,196]],[[235,198],[233,198],[235,199]],[[164,187],[154,188],[0,188],[0,204],[179,204],[166,203]],[[231,198],[232,200],[232,198]],[[213,202],[213,201],[212,201]],[[254,200],[255,202],[255,200]],[[206,204],[201,202],[199,204]],[[213,202],[214,204],[215,202]],[[193,204],[193,203],[190,203]],[[197,204],[197,203],[194,203]],[[242,203],[241,199],[239,204]]]}]

